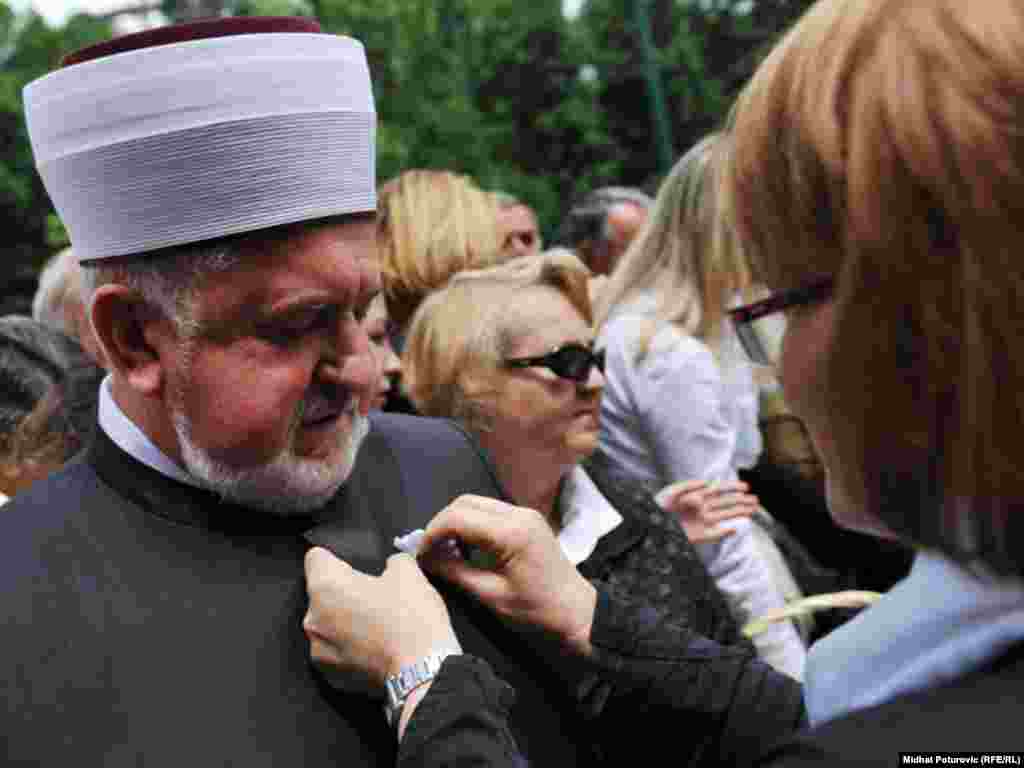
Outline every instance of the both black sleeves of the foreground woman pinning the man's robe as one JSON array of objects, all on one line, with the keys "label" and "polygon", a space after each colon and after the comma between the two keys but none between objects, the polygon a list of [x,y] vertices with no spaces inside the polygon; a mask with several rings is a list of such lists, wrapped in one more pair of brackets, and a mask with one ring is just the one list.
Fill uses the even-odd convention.
[{"label": "both black sleeves of the foreground woman pinning the man's robe", "polygon": [[[591,641],[594,654],[571,682],[608,765],[629,765],[645,743],[674,765],[749,766],[804,724],[799,683],[746,648],[660,623],[644,602],[601,590]],[[410,721],[398,768],[525,766],[508,729],[512,699],[485,663],[445,659]]]}]

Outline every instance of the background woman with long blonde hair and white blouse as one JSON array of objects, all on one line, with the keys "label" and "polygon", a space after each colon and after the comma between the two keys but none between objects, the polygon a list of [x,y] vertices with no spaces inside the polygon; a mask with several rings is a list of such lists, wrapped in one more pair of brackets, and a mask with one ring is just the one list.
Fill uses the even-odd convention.
[{"label": "background woman with long blonde hair and white blouse", "polygon": [[[679,160],[595,313],[608,362],[601,446],[651,494],[688,478],[735,482],[761,453],[758,388],[725,316],[750,285],[716,193],[726,148],[713,135]],[[760,527],[737,520],[733,528],[697,549],[740,622],[799,599]],[[792,623],[755,642],[766,660],[801,678],[806,649]]]}]

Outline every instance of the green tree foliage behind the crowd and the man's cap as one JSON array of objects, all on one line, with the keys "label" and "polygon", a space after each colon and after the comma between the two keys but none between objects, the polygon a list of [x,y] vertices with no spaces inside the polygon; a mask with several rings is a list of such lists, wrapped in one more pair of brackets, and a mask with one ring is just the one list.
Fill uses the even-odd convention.
[{"label": "green tree foliage behind the crowd and the man's cap", "polygon": [[[367,48],[378,110],[378,176],[466,173],[516,195],[555,231],[566,207],[603,184],[652,187],[659,167],[636,3],[679,154],[724,118],[760,51],[811,0],[163,0],[196,13],[315,15]],[[65,237],[33,166],[22,88],[110,35],[109,20],[60,29],[0,0],[0,224],[7,252],[39,263]]]}]

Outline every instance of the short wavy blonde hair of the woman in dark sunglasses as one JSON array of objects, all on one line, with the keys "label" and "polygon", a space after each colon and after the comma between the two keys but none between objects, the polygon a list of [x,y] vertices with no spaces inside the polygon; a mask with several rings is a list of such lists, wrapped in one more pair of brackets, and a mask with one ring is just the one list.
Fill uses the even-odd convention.
[{"label": "short wavy blonde hair of the woman in dark sunglasses", "polygon": [[486,382],[534,328],[519,301],[530,291],[556,290],[593,322],[590,270],[570,251],[552,249],[489,269],[464,271],[431,294],[413,317],[402,353],[402,385],[424,416],[488,428]]}]

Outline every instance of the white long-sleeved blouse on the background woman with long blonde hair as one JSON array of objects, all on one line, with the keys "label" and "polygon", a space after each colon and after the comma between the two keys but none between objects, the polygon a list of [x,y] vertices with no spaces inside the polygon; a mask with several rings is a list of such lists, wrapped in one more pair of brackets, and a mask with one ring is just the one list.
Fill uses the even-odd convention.
[{"label": "white long-sleeved blouse on the background woman with long blonde hair", "polygon": [[[753,368],[731,327],[716,357],[703,342],[665,324],[637,359],[654,310],[655,299],[645,296],[600,329],[601,449],[652,495],[679,480],[735,480],[737,470],[754,466],[762,450]],[[784,597],[753,523],[723,524],[735,532],[695,547],[740,624],[782,607]],[[754,642],[766,662],[802,678],[806,648],[791,623],[772,625]]]}]

